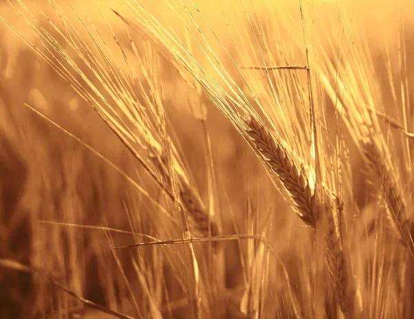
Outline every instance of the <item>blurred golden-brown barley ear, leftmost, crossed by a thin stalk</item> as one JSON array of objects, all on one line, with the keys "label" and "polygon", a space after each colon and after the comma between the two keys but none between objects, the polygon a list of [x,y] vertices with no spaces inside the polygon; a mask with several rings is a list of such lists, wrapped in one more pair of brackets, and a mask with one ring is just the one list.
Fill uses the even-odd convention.
[{"label": "blurred golden-brown barley ear, leftmost, crossed by a thin stalk", "polygon": [[[152,162],[157,166],[159,173],[161,173],[162,180],[168,189],[172,187],[170,172],[167,169],[167,162],[164,156],[150,155]],[[186,178],[181,173],[177,173],[177,182],[179,186],[179,200],[184,205],[188,212],[188,225],[192,233],[200,233],[203,236],[219,235],[219,227],[213,218],[208,214],[201,198],[195,189],[188,184]]]}]

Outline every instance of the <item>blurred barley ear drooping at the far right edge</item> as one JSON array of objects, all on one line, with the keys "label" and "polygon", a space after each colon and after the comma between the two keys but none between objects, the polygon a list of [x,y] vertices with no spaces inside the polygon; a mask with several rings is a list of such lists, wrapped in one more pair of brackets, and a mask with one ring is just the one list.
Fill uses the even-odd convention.
[{"label": "blurred barley ear drooping at the far right edge", "polygon": [[388,165],[386,157],[384,157],[384,154],[375,141],[366,139],[363,142],[363,146],[364,154],[368,160],[368,166],[382,180],[381,190],[386,199],[389,215],[397,229],[400,240],[413,253],[413,240],[411,238],[410,222],[406,213],[406,202],[401,190],[397,186],[391,167]]}]

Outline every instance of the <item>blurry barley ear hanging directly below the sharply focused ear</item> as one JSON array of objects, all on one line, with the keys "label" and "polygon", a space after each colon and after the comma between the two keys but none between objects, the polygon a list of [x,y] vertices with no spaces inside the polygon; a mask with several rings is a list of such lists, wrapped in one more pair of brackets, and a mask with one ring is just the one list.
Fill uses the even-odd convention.
[{"label": "blurry barley ear hanging directly below the sharply focused ear", "polygon": [[339,229],[335,224],[335,208],[330,202],[319,205],[323,215],[326,241],[326,266],[333,285],[333,292],[342,313],[353,318],[355,288],[351,276],[351,262],[346,259]]}]

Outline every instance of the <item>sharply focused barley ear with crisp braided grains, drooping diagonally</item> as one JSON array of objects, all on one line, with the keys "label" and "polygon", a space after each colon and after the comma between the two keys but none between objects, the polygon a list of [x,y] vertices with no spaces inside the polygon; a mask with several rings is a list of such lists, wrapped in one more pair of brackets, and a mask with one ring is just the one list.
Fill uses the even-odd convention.
[{"label": "sharply focused barley ear with crisp braided grains, drooping diagonally", "polygon": [[293,202],[295,211],[299,218],[306,224],[315,227],[315,215],[313,213],[313,195],[308,184],[308,177],[304,171],[299,169],[286,149],[279,144],[270,133],[255,117],[244,119],[246,133],[253,142],[253,146],[282,182],[288,191]]}]

